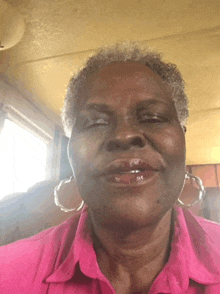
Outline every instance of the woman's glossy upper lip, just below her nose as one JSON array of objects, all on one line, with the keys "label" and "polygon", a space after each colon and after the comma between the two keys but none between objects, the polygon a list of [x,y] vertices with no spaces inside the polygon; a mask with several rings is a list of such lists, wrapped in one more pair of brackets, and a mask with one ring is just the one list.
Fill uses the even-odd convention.
[{"label": "woman's glossy upper lip, just below her nose", "polygon": [[157,171],[158,168],[140,158],[117,159],[107,164],[103,175],[120,174],[131,171]]}]

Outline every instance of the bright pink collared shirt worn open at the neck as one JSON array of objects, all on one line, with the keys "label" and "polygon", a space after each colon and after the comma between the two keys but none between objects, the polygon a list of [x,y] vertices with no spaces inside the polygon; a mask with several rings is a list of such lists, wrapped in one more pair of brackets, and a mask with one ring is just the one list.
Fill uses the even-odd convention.
[{"label": "bright pink collared shirt worn open at the neck", "polygon": [[[220,293],[220,225],[176,208],[170,258],[150,294]],[[0,247],[1,294],[114,294],[99,269],[87,209],[63,224]]]}]

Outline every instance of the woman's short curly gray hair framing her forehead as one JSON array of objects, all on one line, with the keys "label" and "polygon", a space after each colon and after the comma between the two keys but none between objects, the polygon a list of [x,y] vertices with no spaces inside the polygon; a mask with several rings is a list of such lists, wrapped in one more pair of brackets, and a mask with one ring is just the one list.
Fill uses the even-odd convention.
[{"label": "woman's short curly gray hair framing her forehead", "polygon": [[68,137],[71,135],[75,115],[86,101],[88,79],[114,62],[138,62],[157,73],[171,90],[178,119],[180,124],[185,126],[188,118],[188,99],[184,90],[184,80],[176,65],[162,61],[160,54],[146,46],[123,42],[101,48],[70,79],[62,109],[62,122]]}]

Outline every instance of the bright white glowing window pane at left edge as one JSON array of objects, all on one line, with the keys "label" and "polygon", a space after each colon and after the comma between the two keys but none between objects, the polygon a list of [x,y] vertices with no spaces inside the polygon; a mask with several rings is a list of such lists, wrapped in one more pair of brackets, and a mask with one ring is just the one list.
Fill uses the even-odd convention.
[{"label": "bright white glowing window pane at left edge", "polygon": [[6,119],[0,133],[0,201],[46,179],[47,144]]}]

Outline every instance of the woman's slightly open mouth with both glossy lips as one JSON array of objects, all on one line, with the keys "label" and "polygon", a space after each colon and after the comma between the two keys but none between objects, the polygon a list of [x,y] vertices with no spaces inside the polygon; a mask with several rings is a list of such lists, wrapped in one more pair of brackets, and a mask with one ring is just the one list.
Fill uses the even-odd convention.
[{"label": "woman's slightly open mouth with both glossy lips", "polygon": [[140,186],[156,175],[158,169],[139,158],[116,160],[102,175],[105,182],[119,186]]}]

